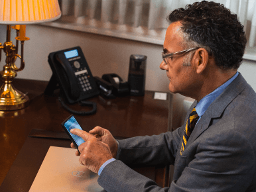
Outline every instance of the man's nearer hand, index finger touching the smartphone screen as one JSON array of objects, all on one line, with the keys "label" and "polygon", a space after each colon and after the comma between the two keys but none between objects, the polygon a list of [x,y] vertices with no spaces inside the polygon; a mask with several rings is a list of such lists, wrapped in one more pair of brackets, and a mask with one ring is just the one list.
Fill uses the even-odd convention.
[{"label": "man's nearer hand, index finger touching the smartphone screen", "polygon": [[[81,153],[79,162],[94,173],[98,173],[102,164],[113,158],[109,146],[97,139],[96,136],[78,128],[73,128],[70,132],[82,137],[86,141],[78,147]],[[73,146],[74,144],[72,143],[71,147]],[[78,155],[79,152],[76,152],[76,156]]]}]

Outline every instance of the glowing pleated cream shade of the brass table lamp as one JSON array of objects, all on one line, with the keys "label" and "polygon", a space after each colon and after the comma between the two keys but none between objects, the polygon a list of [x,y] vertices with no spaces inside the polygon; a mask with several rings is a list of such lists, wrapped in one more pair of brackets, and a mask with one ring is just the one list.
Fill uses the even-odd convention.
[{"label": "glowing pleated cream shade of the brass table lamp", "polygon": [[0,24],[34,24],[60,18],[58,0],[0,0]]}]

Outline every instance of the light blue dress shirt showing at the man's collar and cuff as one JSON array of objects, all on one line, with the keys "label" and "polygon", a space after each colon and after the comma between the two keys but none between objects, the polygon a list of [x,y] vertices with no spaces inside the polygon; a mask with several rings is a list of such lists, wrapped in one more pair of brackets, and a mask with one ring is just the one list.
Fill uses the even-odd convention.
[{"label": "light blue dress shirt showing at the man's collar and cuff", "polygon": [[[209,95],[206,95],[203,99],[201,99],[198,102],[198,105],[196,105],[196,113],[198,113],[198,116],[201,118],[202,115],[204,115],[204,112],[208,109],[208,107],[211,105],[211,103],[224,91],[225,88],[239,75],[239,72],[235,73],[233,77],[231,77],[228,81],[226,81],[223,85],[212,91]],[[198,121],[200,120],[198,119]],[[100,168],[98,175],[100,175],[101,171],[107,166],[107,164],[115,161],[114,158],[107,160]]]}]

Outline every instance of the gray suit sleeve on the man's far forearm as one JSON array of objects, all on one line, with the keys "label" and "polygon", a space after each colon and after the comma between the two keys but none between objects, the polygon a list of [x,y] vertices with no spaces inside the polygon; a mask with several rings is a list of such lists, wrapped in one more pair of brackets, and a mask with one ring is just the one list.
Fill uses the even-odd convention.
[{"label": "gray suit sleeve on the man's far forearm", "polygon": [[137,136],[119,140],[117,160],[127,165],[170,165],[174,164],[180,142],[178,130],[153,136]]}]

